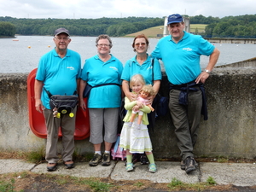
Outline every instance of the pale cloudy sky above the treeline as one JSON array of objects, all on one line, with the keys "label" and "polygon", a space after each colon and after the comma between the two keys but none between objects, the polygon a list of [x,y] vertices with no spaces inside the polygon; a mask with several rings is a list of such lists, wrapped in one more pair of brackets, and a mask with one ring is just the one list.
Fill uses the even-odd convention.
[{"label": "pale cloudy sky above the treeline", "polygon": [[0,0],[0,16],[97,19],[180,15],[255,15],[255,0]]}]

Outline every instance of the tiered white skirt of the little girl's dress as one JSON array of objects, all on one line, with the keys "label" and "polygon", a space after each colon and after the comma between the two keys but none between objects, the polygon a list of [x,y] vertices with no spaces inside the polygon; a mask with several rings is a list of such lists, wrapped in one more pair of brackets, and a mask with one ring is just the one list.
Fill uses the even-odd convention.
[{"label": "tiered white skirt of the little girl's dress", "polygon": [[119,147],[124,148],[124,150],[130,149],[131,154],[143,154],[145,151],[152,151],[152,143],[148,134],[147,125],[141,123],[140,128],[138,128],[137,118],[130,125],[130,122],[124,123],[120,135]]}]

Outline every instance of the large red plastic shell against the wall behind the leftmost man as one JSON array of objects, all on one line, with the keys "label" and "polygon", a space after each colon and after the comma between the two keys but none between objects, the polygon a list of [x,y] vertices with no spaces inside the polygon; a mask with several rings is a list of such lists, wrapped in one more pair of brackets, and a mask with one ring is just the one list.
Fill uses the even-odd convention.
[{"label": "large red plastic shell against the wall behind the leftmost man", "polygon": [[[47,137],[46,125],[44,122],[43,113],[39,113],[35,108],[35,96],[34,96],[34,84],[35,77],[37,73],[37,68],[33,69],[27,77],[27,103],[29,111],[29,125],[32,132],[41,138]],[[84,99],[84,102],[87,102],[87,99]],[[59,137],[61,137],[61,129],[59,131]],[[81,108],[78,108],[76,115],[76,127],[74,132],[75,140],[82,140],[90,136],[90,121],[89,121],[89,111],[86,108],[83,111]]]}]

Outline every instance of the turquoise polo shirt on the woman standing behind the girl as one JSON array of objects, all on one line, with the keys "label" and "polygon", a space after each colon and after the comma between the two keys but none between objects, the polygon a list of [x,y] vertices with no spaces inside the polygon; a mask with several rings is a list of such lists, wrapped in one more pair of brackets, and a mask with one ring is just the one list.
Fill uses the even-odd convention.
[{"label": "turquoise polo shirt on the woman standing behind the girl", "polygon": [[[135,74],[141,74],[146,82],[146,84],[154,83],[154,80],[161,80],[162,73],[160,68],[160,63],[158,60],[154,60],[154,67],[152,67],[152,57],[148,56],[147,60],[140,65],[136,59],[137,56],[131,58],[131,60],[126,61],[124,71],[122,73],[121,79],[130,81],[131,77]],[[152,73],[154,68],[154,79],[152,79]]]}]

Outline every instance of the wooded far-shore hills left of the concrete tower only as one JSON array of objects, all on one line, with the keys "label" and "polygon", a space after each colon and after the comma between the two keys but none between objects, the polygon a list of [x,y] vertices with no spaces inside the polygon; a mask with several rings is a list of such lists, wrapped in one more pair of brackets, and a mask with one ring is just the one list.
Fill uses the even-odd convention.
[{"label": "wooded far-shore hills left of the concrete tower only", "polygon": [[[127,17],[127,18],[101,18],[101,19],[16,19],[0,17],[15,25],[14,34],[20,35],[53,35],[56,28],[65,27],[73,36],[98,36],[108,34],[111,37],[125,36],[125,34],[138,32],[153,26],[161,26],[163,18]],[[0,36],[3,34],[0,28]]]}]

